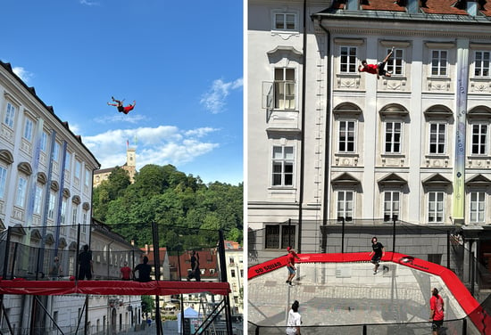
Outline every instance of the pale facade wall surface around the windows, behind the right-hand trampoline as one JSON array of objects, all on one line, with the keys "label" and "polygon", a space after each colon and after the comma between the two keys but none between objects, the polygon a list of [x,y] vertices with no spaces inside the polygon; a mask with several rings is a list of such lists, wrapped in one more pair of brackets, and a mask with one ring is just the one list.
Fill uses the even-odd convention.
[{"label": "pale facade wall surface around the windows, behind the right-hand trampoline", "polygon": [[[251,0],[248,4],[247,222],[254,230],[279,225],[277,248],[268,248],[267,238],[255,241],[258,248],[283,250],[286,242],[281,229],[288,219],[295,227],[293,244],[298,243],[298,221],[302,219],[302,251],[319,251],[319,226],[324,219],[336,221],[340,203],[345,204],[345,194],[340,192],[353,195],[349,206],[355,220],[383,219],[387,216],[384,206],[395,202],[385,201],[387,192],[395,192],[399,206],[393,212],[405,222],[447,226],[491,223],[487,209],[480,212],[480,220],[470,217],[476,206],[470,201],[472,192],[485,195],[479,206],[491,206],[491,151],[472,152],[476,124],[487,127],[483,147],[491,145],[491,77],[489,71],[483,76],[475,73],[476,52],[488,55],[491,50],[488,20],[481,17],[478,24],[468,18],[468,23],[462,24],[457,23],[456,15],[432,20],[424,14],[417,21],[381,20],[373,11],[318,14],[330,2],[307,1],[304,38],[303,2]],[[276,29],[275,13],[293,15],[295,29]],[[378,15],[383,17],[384,12]],[[363,59],[381,61],[392,46],[402,54],[400,73],[378,80],[356,70]],[[351,60],[354,71],[342,70],[343,48],[355,50]],[[445,52],[445,74],[432,73],[434,51]],[[459,58],[459,53],[468,54],[467,60]],[[286,108],[286,102],[281,106],[275,105],[274,97],[268,99],[270,92],[283,93],[268,85],[275,80],[283,85],[275,78],[274,69],[294,69],[295,106]],[[469,73],[464,83],[468,90],[465,129],[458,127],[460,69]],[[354,150],[340,150],[344,122],[354,124]],[[387,124],[392,122],[402,126],[400,150],[387,152]],[[430,127],[435,123],[445,125],[445,151],[438,153],[429,151]],[[461,176],[464,190],[459,191],[454,182],[459,170],[455,152],[457,134],[463,130],[467,133]],[[291,184],[275,184],[275,146],[293,148]],[[285,171],[279,175],[285,177]],[[432,192],[443,194],[437,203],[437,215],[441,216],[437,219],[429,213]],[[463,217],[455,217],[462,206],[456,192],[465,198]]]}]

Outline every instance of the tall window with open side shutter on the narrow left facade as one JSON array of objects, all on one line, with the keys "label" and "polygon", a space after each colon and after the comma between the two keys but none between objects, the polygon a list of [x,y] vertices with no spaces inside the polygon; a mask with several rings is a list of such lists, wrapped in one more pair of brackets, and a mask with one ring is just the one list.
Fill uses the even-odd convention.
[{"label": "tall window with open side shutter on the narrow left facade", "polygon": [[295,69],[274,69],[274,108],[295,110]]}]

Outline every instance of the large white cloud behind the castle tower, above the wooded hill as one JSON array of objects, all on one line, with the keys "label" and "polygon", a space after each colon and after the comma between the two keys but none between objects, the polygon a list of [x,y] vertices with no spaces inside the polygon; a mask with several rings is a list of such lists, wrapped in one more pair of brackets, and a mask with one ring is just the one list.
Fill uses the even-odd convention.
[{"label": "large white cloud behind the castle tower, above the wooded hill", "polygon": [[114,129],[84,136],[83,142],[102,168],[125,163],[127,141],[130,147],[137,148],[137,169],[146,164],[172,164],[178,167],[218,148],[219,143],[199,139],[216,130],[206,127],[180,130],[172,126]]}]

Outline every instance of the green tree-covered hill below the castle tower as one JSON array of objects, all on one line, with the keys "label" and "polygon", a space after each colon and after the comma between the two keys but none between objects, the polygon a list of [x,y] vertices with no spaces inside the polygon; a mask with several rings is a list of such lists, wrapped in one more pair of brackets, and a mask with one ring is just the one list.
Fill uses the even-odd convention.
[{"label": "green tree-covered hill below the castle tower", "polygon": [[139,229],[151,223],[162,226],[169,240],[172,231],[222,229],[226,239],[242,243],[243,188],[204,184],[171,165],[146,165],[131,184],[128,172],[117,167],[94,189],[93,217],[140,246],[152,242],[150,229]]}]

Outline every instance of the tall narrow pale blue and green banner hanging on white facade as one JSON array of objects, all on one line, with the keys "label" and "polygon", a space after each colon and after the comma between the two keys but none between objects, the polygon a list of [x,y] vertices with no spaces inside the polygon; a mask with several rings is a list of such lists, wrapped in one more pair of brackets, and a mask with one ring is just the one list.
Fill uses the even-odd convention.
[{"label": "tall narrow pale blue and green banner hanging on white facade", "polygon": [[[465,44],[465,45],[464,45]],[[457,92],[454,164],[454,223],[463,224],[465,209],[465,125],[469,78],[469,44],[457,41]]]}]

